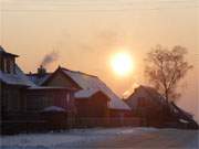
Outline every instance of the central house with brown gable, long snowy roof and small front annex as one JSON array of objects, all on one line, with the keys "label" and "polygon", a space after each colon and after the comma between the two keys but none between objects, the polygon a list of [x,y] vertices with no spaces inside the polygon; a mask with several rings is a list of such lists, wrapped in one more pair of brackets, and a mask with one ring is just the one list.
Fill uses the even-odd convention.
[{"label": "central house with brown gable, long snowy roof and small front annex", "polygon": [[43,83],[39,84],[77,89],[74,96],[80,121],[83,119],[86,121],[87,118],[96,121],[96,119],[108,117],[107,123],[123,125],[125,117],[129,116],[130,108],[126,103],[97,76],[59,67]]}]

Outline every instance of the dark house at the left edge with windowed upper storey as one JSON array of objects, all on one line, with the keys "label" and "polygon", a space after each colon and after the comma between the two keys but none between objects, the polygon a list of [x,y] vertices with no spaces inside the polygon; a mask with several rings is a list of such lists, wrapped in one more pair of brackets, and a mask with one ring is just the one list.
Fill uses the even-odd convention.
[{"label": "dark house at the left edge with windowed upper storey", "polygon": [[35,86],[15,64],[17,57],[19,56],[0,46],[1,132],[22,119],[27,108],[24,92],[28,87]]}]

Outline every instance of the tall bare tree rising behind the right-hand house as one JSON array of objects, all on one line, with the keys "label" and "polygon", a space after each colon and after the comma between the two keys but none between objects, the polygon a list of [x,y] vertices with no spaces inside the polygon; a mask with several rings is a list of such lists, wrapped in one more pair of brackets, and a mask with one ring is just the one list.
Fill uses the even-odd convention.
[{"label": "tall bare tree rising behind the right-hand house", "polygon": [[192,68],[185,60],[187,50],[182,46],[174,46],[171,50],[157,45],[148,54],[145,74],[149,83],[165,97],[166,102],[177,99],[177,85],[187,72]]}]

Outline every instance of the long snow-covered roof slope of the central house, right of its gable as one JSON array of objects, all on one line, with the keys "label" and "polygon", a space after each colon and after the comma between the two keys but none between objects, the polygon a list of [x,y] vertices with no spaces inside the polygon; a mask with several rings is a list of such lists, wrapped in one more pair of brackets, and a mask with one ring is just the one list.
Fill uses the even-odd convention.
[{"label": "long snow-covered roof slope of the central house, right of its gable", "polygon": [[109,108],[111,109],[124,109],[130,110],[130,108],[123,102],[109,87],[106,86],[97,76],[87,75],[81,72],[74,72],[70,70],[62,68],[62,71],[70,76],[78,86],[88,94],[92,89],[103,92],[107,97],[109,97]]}]

